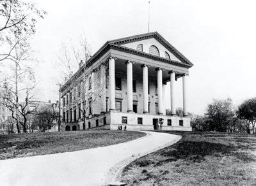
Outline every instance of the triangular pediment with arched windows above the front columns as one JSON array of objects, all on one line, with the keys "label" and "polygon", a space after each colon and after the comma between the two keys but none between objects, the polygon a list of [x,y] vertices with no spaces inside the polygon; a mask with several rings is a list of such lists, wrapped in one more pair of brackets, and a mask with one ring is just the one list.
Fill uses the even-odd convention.
[{"label": "triangular pediment with arched windows above the front columns", "polygon": [[131,48],[133,50],[138,50],[138,45],[142,45],[141,52],[145,52],[147,54],[150,54],[150,46],[154,45],[159,50],[159,57],[166,58],[167,53],[170,56],[170,60],[193,66],[193,64],[186,59],[184,55],[168,43],[168,41],[166,41],[166,39],[164,39],[158,32],[150,32],[147,34],[115,39],[109,41],[109,43]]}]

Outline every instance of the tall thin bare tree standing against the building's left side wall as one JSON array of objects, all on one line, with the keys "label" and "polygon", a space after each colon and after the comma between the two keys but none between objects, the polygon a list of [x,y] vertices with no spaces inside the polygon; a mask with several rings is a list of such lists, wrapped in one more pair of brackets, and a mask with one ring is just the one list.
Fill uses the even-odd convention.
[{"label": "tall thin bare tree standing against the building's left side wall", "polygon": [[[95,69],[92,75],[85,75],[85,64],[90,58],[90,45],[85,34],[81,34],[77,39],[69,39],[68,44],[62,43],[60,53],[57,56],[58,61],[56,66],[60,70],[62,79],[65,83],[68,80],[68,86],[77,87],[74,91],[74,99],[69,103],[69,106],[78,106],[78,110],[83,115],[83,124],[86,120],[86,112],[92,108],[92,105],[97,102],[105,85],[101,85],[100,69]],[[83,71],[81,76],[73,76],[73,72],[79,68]],[[107,68],[107,66],[106,66]],[[60,82],[61,80],[58,80]],[[92,88],[93,87],[93,88]],[[93,89],[92,91],[88,91]]]}]

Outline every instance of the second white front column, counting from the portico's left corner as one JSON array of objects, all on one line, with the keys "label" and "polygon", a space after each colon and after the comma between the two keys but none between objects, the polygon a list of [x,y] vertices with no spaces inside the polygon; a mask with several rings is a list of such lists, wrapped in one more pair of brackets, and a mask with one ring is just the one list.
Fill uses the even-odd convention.
[{"label": "second white front column, counting from the portico's left corner", "polygon": [[132,112],[132,62],[127,61],[127,111]]}]

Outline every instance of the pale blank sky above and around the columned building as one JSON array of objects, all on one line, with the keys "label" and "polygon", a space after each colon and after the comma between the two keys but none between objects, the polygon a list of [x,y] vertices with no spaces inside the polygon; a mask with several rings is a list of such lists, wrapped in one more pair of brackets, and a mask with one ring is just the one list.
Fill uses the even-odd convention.
[{"label": "pale blank sky above and around the columned building", "polygon": [[[35,1],[47,11],[36,25],[38,99],[58,100],[57,55],[61,42],[86,33],[92,54],[106,41],[147,32],[148,1]],[[194,66],[189,69],[189,112],[204,114],[212,99],[237,106],[256,96],[256,1],[152,0],[150,32],[157,31]],[[170,107],[170,88],[165,107]],[[175,85],[182,107],[182,79]]]}]

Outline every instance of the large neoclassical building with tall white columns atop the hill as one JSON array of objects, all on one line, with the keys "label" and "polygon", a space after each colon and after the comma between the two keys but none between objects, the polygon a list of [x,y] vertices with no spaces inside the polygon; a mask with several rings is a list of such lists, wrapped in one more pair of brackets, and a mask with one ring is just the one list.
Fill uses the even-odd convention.
[{"label": "large neoclassical building with tall white columns atop the hill", "polygon": [[[163,130],[191,131],[187,78],[192,66],[158,32],[108,41],[61,87],[62,130],[115,130],[118,125],[154,130],[163,118]],[[183,83],[183,117],[175,115],[173,102],[178,78]],[[166,115],[163,87],[169,81],[171,115]]]}]

